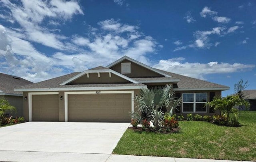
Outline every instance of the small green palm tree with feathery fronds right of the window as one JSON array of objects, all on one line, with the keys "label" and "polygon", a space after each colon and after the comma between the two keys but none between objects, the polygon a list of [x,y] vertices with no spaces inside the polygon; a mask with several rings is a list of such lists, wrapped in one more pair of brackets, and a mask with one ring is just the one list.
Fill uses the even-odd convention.
[{"label": "small green palm tree with feathery fronds right of the window", "polygon": [[235,105],[244,105],[246,107],[250,107],[250,103],[243,98],[239,98],[238,95],[226,96],[220,98],[219,96],[215,96],[212,101],[207,102],[206,105],[214,108],[215,110],[220,110],[223,114],[227,115],[227,123],[229,122],[230,113],[232,113],[232,108]]}]

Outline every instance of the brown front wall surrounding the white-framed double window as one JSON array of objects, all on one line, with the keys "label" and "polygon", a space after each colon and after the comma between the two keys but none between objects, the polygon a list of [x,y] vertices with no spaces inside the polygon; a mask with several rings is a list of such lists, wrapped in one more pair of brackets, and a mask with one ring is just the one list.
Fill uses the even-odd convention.
[{"label": "brown front wall surrounding the white-framed double window", "polygon": [[[181,96],[183,93],[207,93],[207,101],[210,101],[210,92],[215,92],[215,96],[221,96],[221,90],[212,90],[212,91],[176,91],[177,93],[181,93]],[[181,110],[181,113],[176,113],[177,115],[184,115],[184,117],[186,118],[187,114],[189,113],[184,113],[182,112],[182,103],[181,103],[181,106],[180,106],[180,110]],[[209,111],[209,107],[207,107],[207,112],[206,113],[198,113],[198,112],[194,112],[192,113],[193,115],[195,114],[199,114],[199,115],[215,115],[215,114],[219,114],[220,111],[215,111],[214,113],[210,113]]]}]

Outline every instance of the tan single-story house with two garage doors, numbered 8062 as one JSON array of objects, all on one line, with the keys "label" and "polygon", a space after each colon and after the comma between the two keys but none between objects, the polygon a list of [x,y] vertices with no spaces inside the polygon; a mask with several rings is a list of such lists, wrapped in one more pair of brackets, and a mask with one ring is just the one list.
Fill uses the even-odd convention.
[{"label": "tan single-story house with two garage doors, numbered 8062", "polygon": [[[141,88],[173,84],[176,97],[183,97],[181,113],[214,115],[204,107],[223,90],[230,89],[204,80],[152,68],[127,56],[112,64],[84,72],[19,87],[23,92],[27,121],[130,122],[136,108],[134,96]],[[180,111],[176,111],[180,113]]]}]

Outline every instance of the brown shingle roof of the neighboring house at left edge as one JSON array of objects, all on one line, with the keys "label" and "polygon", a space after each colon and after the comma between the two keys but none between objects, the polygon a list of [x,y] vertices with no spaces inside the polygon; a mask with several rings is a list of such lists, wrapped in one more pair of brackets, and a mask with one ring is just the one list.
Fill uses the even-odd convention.
[{"label": "brown shingle roof of the neighboring house at left edge", "polygon": [[0,73],[0,95],[22,96],[22,92],[14,91],[14,88],[32,83],[18,76]]}]

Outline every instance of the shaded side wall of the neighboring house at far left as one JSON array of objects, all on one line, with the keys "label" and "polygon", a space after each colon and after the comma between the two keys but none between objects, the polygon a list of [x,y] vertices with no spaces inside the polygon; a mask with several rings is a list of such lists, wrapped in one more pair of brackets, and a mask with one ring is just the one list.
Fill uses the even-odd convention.
[{"label": "shaded side wall of the neighboring house at far left", "polygon": [[10,95],[4,95],[3,97],[9,101],[10,105],[16,107],[17,112],[8,112],[9,116],[12,116],[12,118],[23,117],[23,97]]}]

